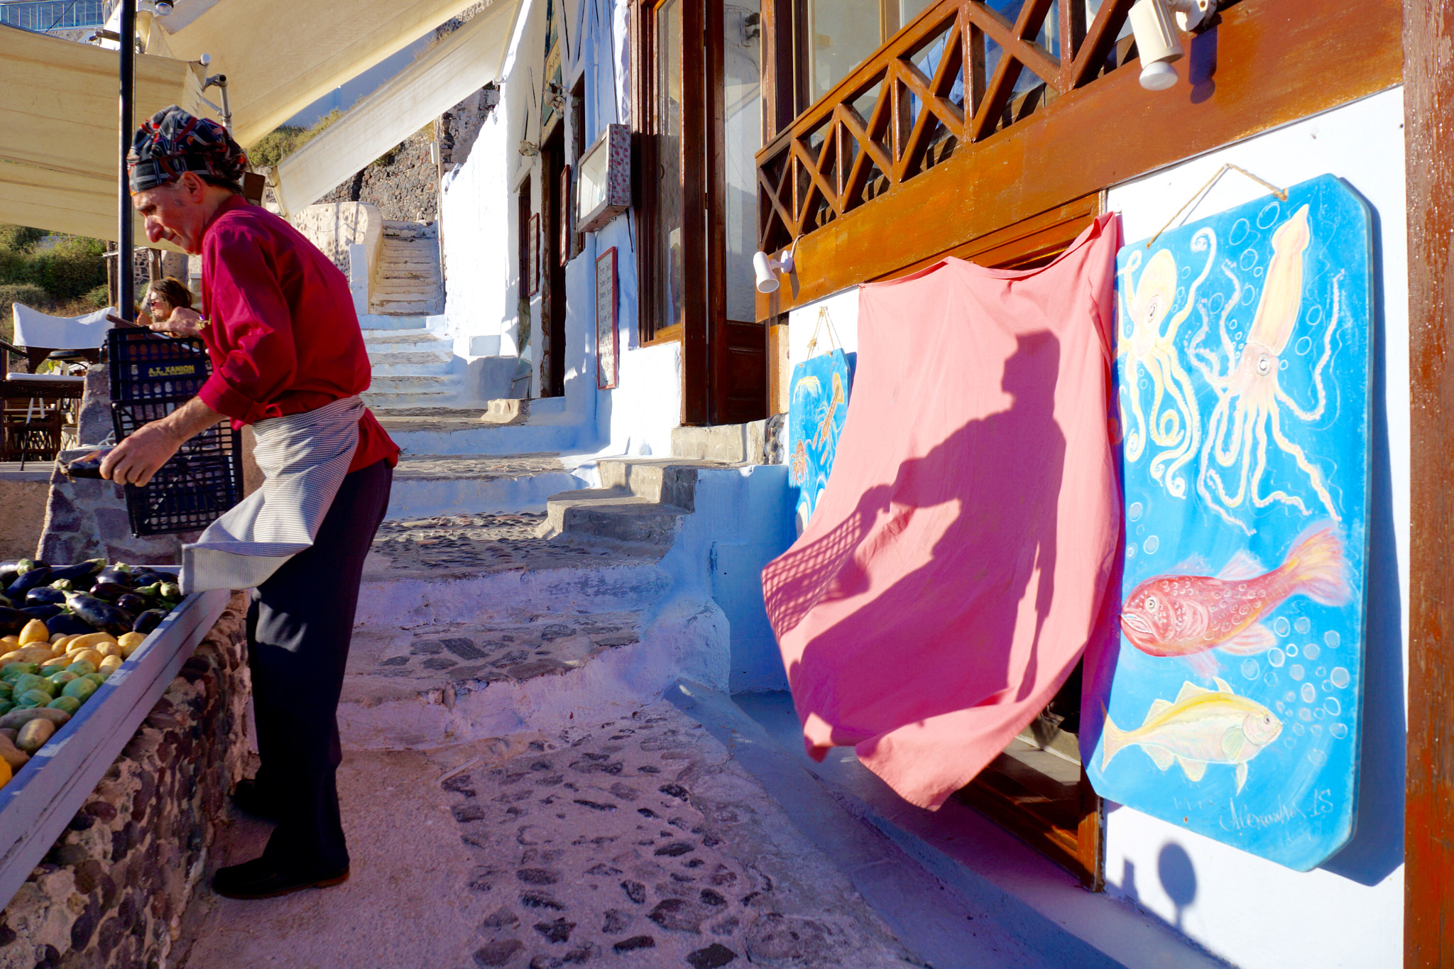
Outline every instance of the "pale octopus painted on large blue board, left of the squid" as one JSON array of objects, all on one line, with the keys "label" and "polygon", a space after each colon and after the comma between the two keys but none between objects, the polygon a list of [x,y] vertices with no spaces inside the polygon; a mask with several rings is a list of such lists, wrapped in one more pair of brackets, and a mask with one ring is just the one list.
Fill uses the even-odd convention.
[{"label": "pale octopus painted on large blue board, left of the squid", "polygon": [[[1178,292],[1176,257],[1169,250],[1157,250],[1141,270],[1120,305],[1130,331],[1120,334],[1124,385],[1121,389],[1121,426],[1125,427],[1125,459],[1136,463],[1152,446],[1150,474],[1162,482],[1173,498],[1186,495],[1186,479],[1181,469],[1197,456],[1201,440],[1201,417],[1191,376],[1182,366],[1176,334],[1197,301],[1197,289],[1211,272],[1217,257],[1217,237],[1210,230],[1198,231],[1191,241],[1192,251],[1207,251],[1207,263],[1192,282],[1181,309],[1172,314]],[[1136,250],[1121,275],[1127,279],[1141,264]],[[1127,283],[1130,286],[1130,283]],[[1165,321],[1165,327],[1162,325]],[[1149,386],[1144,386],[1147,385]],[[1141,402],[1141,391],[1150,391],[1149,407]],[[1130,415],[1127,415],[1130,404]]]}]

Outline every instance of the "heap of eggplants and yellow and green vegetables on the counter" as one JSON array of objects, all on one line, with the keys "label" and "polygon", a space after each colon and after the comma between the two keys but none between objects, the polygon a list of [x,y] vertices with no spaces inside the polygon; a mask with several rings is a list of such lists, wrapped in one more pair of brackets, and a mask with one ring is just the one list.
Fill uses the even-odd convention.
[{"label": "heap of eggplants and yellow and green vegetables on the counter", "polygon": [[173,575],[90,559],[0,562],[0,787],[182,601]]}]

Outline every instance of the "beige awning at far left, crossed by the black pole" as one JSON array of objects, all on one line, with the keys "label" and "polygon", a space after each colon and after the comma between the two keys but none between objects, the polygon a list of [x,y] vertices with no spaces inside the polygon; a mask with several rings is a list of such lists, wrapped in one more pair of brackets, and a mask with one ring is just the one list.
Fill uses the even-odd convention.
[{"label": "beige awning at far left, crossed by the black pole", "polygon": [[[0,222],[113,240],[121,205],[115,51],[0,26]],[[196,110],[196,70],[137,55],[137,118]],[[144,240],[137,219],[137,238]],[[170,248],[170,246],[166,246]]]}]

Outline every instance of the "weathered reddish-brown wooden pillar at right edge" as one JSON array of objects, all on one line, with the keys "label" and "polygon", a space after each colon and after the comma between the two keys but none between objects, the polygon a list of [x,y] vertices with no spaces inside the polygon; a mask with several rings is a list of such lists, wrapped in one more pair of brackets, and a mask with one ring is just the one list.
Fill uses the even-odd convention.
[{"label": "weathered reddish-brown wooden pillar at right edge", "polygon": [[[1403,6],[1412,527],[1406,968],[1454,965],[1454,6]],[[1389,293],[1397,299],[1399,293]]]}]

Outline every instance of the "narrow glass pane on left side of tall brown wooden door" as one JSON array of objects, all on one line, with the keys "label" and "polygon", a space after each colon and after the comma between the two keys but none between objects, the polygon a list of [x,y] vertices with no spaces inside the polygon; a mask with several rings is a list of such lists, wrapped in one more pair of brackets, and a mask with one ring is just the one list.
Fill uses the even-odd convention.
[{"label": "narrow glass pane on left side of tall brown wooden door", "polygon": [[657,57],[657,240],[660,327],[682,321],[682,0],[666,0],[656,16]]}]

